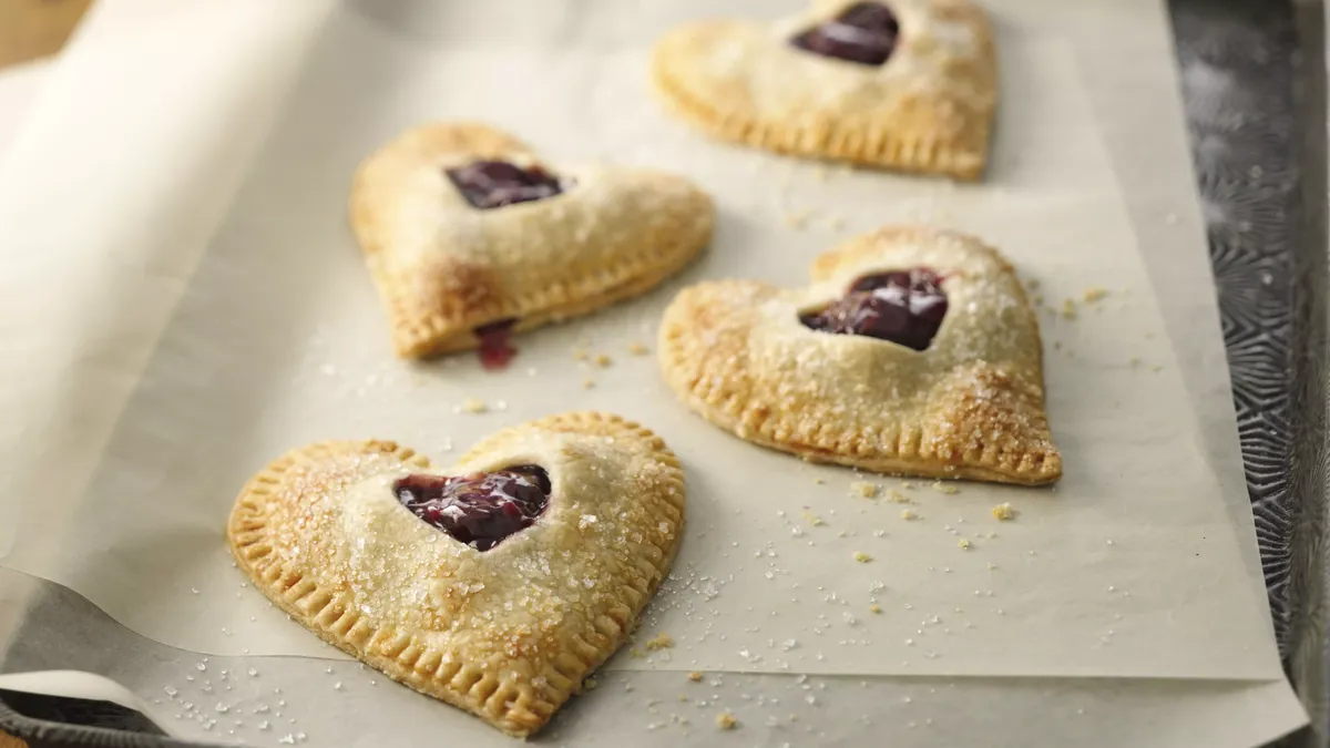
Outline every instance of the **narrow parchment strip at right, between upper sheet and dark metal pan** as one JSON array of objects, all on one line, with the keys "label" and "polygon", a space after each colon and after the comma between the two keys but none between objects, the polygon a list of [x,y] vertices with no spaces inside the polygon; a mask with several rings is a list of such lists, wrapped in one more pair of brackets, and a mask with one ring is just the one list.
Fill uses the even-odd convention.
[{"label": "narrow parchment strip at right, between upper sheet and dark metal pan", "polygon": [[[1258,598],[1266,596],[1257,548],[1252,499],[1238,447],[1233,385],[1220,329],[1214,276],[1205,244],[1205,222],[1196,197],[1196,174],[1178,100],[1180,83],[1150,65],[1124,65],[1121,57],[1173,60],[1168,25],[1145,28],[1130,7],[1079,13],[1064,8],[1057,24],[1077,39],[1085,91],[1112,154],[1141,258],[1156,289],[1156,302],[1192,395],[1210,467],[1224,490],[1229,518]],[[1075,29],[1075,31],[1072,31]],[[1178,76],[1208,76],[1198,60],[1182,60]],[[1173,126],[1161,126],[1173,122]],[[1260,606],[1269,618],[1269,606]]]}]

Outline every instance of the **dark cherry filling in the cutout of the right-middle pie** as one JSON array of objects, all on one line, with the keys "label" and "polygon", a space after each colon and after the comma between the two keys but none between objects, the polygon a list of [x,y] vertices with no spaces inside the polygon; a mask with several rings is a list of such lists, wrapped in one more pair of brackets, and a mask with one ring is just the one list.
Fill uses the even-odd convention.
[{"label": "dark cherry filling in the cutout of the right-middle pie", "polygon": [[821,311],[799,315],[806,327],[867,335],[926,350],[947,315],[942,277],[927,268],[863,276]]}]

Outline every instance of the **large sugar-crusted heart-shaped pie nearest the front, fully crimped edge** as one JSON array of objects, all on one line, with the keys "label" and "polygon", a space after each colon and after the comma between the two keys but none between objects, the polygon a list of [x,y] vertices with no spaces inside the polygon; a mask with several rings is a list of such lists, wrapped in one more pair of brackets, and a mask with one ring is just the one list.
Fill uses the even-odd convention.
[{"label": "large sugar-crusted heart-shaped pie nearest the front, fully crimped edge", "polygon": [[684,524],[658,437],[565,414],[475,446],[447,475],[392,442],[293,451],[241,491],[241,568],[330,644],[525,736],[633,628]]}]

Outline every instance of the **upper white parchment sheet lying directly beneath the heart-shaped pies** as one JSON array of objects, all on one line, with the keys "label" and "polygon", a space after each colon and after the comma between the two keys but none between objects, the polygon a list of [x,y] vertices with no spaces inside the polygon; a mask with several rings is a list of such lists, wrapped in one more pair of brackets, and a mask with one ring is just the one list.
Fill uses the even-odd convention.
[{"label": "upper white parchment sheet lying directly beneath the heart-shaped pies", "polygon": [[[17,507],[12,527],[24,532],[5,563],[173,646],[326,654],[230,566],[221,522],[249,474],[291,446],[336,437],[394,438],[447,463],[450,446],[503,425],[593,407],[658,430],[690,482],[688,539],[648,616],[649,630],[680,646],[614,667],[1278,676],[1065,40],[1019,12],[999,15],[1005,100],[994,165],[986,184],[954,186],[823,176],[706,142],[662,116],[644,84],[646,44],[672,19],[541,8],[555,13],[549,23],[505,27],[503,8],[410,19],[408,28],[473,24],[483,45],[404,43],[391,28],[402,17],[332,19],[89,484],[72,504]],[[686,281],[798,283],[838,238],[926,220],[1003,248],[1049,305],[1107,289],[1075,319],[1044,317],[1067,478],[1056,491],[914,490],[922,519],[906,522],[896,504],[851,496],[849,471],[721,434],[676,405],[653,359],[628,354],[652,341],[677,283],[523,337],[501,375],[467,357],[392,361],[346,229],[347,178],[375,145],[439,117],[505,125],[555,164],[600,158],[694,176],[716,194],[720,225]],[[802,229],[789,225],[801,218]],[[580,366],[579,341],[616,365]],[[589,391],[588,377],[597,382]],[[491,411],[458,413],[466,398]],[[1020,519],[994,520],[1000,502]],[[51,538],[88,554],[51,554]],[[874,560],[855,563],[857,551]]]}]

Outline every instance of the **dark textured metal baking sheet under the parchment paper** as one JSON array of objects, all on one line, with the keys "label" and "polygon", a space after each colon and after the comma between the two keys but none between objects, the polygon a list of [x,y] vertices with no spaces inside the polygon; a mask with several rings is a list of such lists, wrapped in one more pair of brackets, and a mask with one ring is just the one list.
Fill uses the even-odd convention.
[{"label": "dark textured metal baking sheet under the parchment paper", "polygon": [[[1261,0],[1170,8],[1275,635],[1313,713],[1313,728],[1281,745],[1325,745],[1322,8]],[[1198,63],[1232,85],[1220,91],[1189,75]],[[44,716],[64,719],[33,720],[3,701],[0,693],[0,727],[33,745],[178,744],[108,739],[96,725],[122,729],[125,715],[97,716],[104,709],[88,704],[48,705]]]}]

